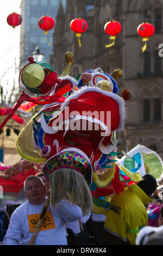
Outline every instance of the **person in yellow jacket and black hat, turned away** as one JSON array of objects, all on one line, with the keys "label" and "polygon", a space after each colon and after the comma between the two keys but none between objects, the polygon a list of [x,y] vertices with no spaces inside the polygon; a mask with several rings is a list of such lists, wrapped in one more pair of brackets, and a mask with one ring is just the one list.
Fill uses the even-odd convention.
[{"label": "person in yellow jacket and black hat, turned away", "polygon": [[145,205],[157,183],[151,174],[146,174],[137,184],[112,197],[104,224],[101,245],[135,245],[139,230],[148,224]]}]

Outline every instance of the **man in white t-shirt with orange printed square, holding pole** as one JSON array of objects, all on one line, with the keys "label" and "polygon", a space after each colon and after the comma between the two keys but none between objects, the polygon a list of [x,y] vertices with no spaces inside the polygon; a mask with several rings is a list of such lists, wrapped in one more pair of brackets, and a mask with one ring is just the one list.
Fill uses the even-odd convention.
[{"label": "man in white t-shirt with orange printed square, holding pole", "polygon": [[[46,188],[39,177],[32,175],[24,181],[24,193],[28,200],[11,215],[4,237],[5,245],[29,245],[45,205]],[[81,217],[80,207],[67,200],[61,200],[55,209],[49,205],[34,245],[67,245],[66,222],[73,222]]]}]

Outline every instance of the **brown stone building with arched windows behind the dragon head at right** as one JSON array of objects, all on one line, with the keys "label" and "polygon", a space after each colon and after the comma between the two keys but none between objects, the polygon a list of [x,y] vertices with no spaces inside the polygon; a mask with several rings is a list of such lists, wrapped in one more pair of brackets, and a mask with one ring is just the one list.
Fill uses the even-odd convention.
[{"label": "brown stone building with arched windows behind the dragon head at right", "polygon": [[[163,0],[95,0],[94,8],[86,11],[89,1],[67,0],[66,13],[62,5],[58,11],[53,38],[54,65],[57,74],[64,69],[64,53],[74,53],[71,75],[100,67],[111,74],[115,68],[124,74],[117,83],[119,95],[127,88],[133,93],[126,101],[128,138],[124,151],[137,144],[145,145],[163,158],[163,58],[159,56],[159,45],[163,44]],[[74,17],[83,17],[88,29],[82,34],[82,47],[70,29]],[[116,36],[115,45],[110,43],[104,25],[117,20],[122,32]],[[142,52],[143,41],[137,26],[144,20],[152,23],[155,34],[149,38],[147,49]]]}]

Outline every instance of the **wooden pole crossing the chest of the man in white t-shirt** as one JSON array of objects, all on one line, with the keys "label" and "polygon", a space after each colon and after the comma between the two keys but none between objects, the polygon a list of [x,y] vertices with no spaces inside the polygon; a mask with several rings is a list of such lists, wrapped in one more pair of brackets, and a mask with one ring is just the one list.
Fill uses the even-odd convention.
[{"label": "wooden pole crossing the chest of the man in white t-shirt", "polygon": [[33,235],[30,239],[30,242],[29,242],[29,245],[34,245],[34,242],[35,242],[35,239],[37,237],[37,234],[39,233],[39,229],[41,227],[41,224],[42,224],[42,221],[43,221],[43,217],[45,216],[46,214],[46,211],[48,209],[48,206],[49,206],[49,203],[50,203],[50,195],[48,196],[47,200],[46,200],[46,203],[45,203],[45,206],[43,207],[42,209],[42,212],[41,212],[41,215],[40,215],[40,218],[39,218],[39,221],[37,222],[36,224],[36,227],[35,227],[35,230],[33,232]]}]

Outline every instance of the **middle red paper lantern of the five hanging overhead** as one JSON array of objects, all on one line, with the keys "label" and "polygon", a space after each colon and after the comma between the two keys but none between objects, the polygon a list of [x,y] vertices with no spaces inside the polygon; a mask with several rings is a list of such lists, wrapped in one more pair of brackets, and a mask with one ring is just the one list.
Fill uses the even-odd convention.
[{"label": "middle red paper lantern of the five hanging overhead", "polygon": [[79,42],[79,47],[81,47],[81,43],[80,43],[80,36],[82,36],[81,33],[85,32],[87,29],[87,22],[84,19],[73,19],[70,22],[70,27],[72,29],[73,32],[76,32],[76,36],[78,38],[78,42]]}]

